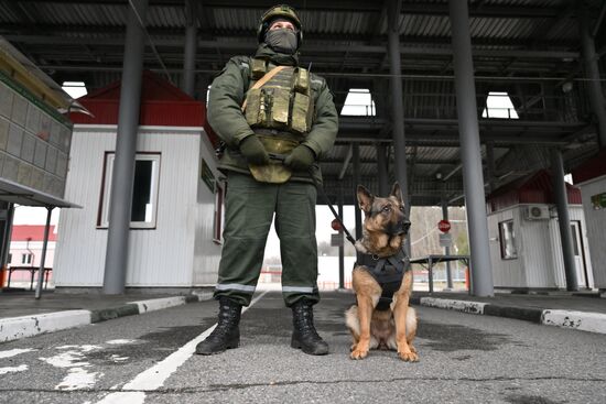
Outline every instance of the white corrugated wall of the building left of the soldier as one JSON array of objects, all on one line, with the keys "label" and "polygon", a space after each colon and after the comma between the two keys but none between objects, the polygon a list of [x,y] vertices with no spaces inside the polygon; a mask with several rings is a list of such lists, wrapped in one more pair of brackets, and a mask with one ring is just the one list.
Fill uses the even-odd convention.
[{"label": "white corrugated wall of the building left of the soldier", "polygon": [[[74,131],[66,199],[83,209],[62,211],[58,229],[57,286],[101,286],[107,229],[97,229],[104,156],[113,151],[116,127],[78,127]],[[219,249],[209,248],[204,266],[194,271],[194,244],[213,228],[214,196],[197,203],[201,131],[140,129],[140,152],[161,152],[156,228],[131,230],[127,286],[192,286],[199,273],[214,273]],[[207,161],[214,167],[214,161]],[[210,212],[210,214],[209,214]],[[202,229],[202,230],[198,230]],[[214,259],[212,256],[215,256]],[[193,273],[196,272],[197,275]]]}]

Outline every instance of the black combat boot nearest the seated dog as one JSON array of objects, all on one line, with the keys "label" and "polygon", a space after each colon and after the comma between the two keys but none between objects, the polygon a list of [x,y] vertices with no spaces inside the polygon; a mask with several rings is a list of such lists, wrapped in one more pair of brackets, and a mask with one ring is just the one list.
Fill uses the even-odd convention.
[{"label": "black combat boot nearest the seated dog", "polygon": [[292,306],[291,347],[302,349],[307,354],[326,354],[328,345],[317,335],[314,327],[314,312],[312,305],[300,299]]}]

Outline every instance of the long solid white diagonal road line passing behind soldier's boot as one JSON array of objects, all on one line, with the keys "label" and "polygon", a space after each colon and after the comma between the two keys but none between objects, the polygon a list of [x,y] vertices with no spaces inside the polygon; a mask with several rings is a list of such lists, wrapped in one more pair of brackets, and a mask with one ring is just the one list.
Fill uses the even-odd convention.
[{"label": "long solid white diagonal road line passing behind soldier's boot", "polygon": [[[248,307],[242,308],[242,313],[252,307],[261,297],[266,295],[269,291],[262,292],[257,296]],[[145,400],[145,393],[143,391],[154,391],[160,389],[164,382],[173,374],[178,367],[181,367],[187,359],[190,359],[196,349],[196,345],[203,341],[213,332],[217,327],[215,324],[213,327],[208,328],[202,332],[196,338],[192,339],[190,342],[185,343],[175,352],[171,353],[164,360],[158,362],[150,369],[147,369],[139,373],[134,379],[122,386],[122,392],[110,393],[105,396],[97,404],[141,404]],[[126,392],[125,392],[126,390]]]}]

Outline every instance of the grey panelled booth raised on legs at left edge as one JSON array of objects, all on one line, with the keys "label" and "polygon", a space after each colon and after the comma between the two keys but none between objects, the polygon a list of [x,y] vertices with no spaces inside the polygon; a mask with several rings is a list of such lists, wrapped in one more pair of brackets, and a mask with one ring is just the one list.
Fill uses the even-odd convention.
[{"label": "grey panelled booth raised on legs at left edge", "polygon": [[[0,37],[0,290],[11,273],[7,261],[14,204],[48,209],[44,252],[51,211],[77,207],[65,199],[72,122],[64,113],[71,108],[82,106]],[[31,266],[25,270],[33,281],[36,269]]]}]

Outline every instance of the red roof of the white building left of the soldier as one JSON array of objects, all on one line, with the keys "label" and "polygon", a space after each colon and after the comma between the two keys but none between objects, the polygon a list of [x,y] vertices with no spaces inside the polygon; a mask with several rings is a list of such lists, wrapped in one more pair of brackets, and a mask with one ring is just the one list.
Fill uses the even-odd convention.
[{"label": "red roof of the white building left of the soldier", "polygon": [[[78,98],[94,117],[69,113],[74,123],[118,124],[121,81]],[[202,127],[206,105],[196,101],[159,75],[145,70],[141,81],[139,124],[165,127]],[[215,141],[215,139],[210,139]]]}]

